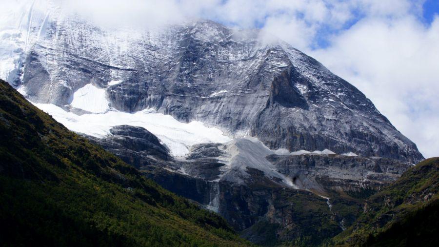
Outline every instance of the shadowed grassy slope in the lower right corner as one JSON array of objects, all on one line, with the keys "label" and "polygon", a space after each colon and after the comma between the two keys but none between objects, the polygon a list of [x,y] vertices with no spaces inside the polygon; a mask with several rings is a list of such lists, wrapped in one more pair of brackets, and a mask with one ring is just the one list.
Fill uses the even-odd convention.
[{"label": "shadowed grassy slope in the lower right corner", "polygon": [[366,201],[353,226],[334,238],[350,246],[435,246],[439,243],[439,158],[407,170]]}]

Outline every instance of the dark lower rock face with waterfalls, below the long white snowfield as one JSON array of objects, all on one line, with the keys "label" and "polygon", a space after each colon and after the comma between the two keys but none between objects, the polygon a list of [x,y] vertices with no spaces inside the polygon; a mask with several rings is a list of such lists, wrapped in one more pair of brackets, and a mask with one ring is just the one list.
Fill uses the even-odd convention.
[{"label": "dark lower rock face with waterfalls, below the long white snowfield", "polygon": [[110,132],[105,139],[88,138],[164,188],[220,213],[258,244],[303,238],[317,241],[303,244],[319,244],[355,221],[364,194],[410,166],[380,157],[277,155],[247,139],[196,144],[175,159],[144,128],[121,125]]}]

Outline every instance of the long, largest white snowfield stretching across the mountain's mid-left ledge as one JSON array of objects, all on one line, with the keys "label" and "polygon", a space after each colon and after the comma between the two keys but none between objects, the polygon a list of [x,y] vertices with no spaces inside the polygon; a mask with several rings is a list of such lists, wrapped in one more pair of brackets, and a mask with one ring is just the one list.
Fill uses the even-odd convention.
[{"label": "long, largest white snowfield stretching across the mountain's mid-left ledge", "polygon": [[145,109],[136,113],[109,110],[105,113],[76,115],[64,111],[54,104],[34,103],[38,108],[52,115],[68,129],[86,135],[105,138],[116,125],[140,126],[156,135],[169,147],[174,156],[189,153],[189,147],[200,143],[225,143],[231,141],[217,128],[209,128],[203,123],[193,121],[181,123],[170,115]]}]

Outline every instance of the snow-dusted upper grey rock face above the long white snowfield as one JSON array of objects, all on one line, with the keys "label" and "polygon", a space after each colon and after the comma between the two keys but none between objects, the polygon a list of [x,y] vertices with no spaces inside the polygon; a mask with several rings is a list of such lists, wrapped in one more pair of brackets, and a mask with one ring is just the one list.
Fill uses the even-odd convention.
[{"label": "snow-dusted upper grey rock face above the long white snowfield", "polygon": [[103,30],[79,17],[51,17],[29,23],[34,43],[22,55],[21,79],[11,82],[33,102],[68,108],[73,93],[92,83],[116,109],[154,108],[272,149],[423,159],[357,88],[282,41],[263,43],[258,31],[212,21]]}]

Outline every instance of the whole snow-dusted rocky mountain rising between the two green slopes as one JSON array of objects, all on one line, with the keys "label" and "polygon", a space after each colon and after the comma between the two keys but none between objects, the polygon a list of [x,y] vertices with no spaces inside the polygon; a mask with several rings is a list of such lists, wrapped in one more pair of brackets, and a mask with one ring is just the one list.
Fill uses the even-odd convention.
[{"label": "whole snow-dusted rocky mountain rising between the two green slopes", "polygon": [[259,30],[109,28],[54,1],[22,6],[1,19],[0,75],[254,243],[329,243],[423,160],[357,88]]}]

